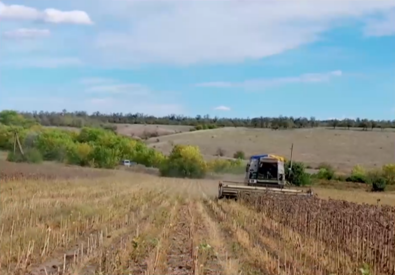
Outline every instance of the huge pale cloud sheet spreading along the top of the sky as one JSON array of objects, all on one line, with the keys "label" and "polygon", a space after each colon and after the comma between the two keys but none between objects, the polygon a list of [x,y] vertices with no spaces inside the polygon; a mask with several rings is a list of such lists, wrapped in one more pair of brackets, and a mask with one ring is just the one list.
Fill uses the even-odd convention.
[{"label": "huge pale cloud sheet spreading along the top of the sky", "polygon": [[343,19],[363,19],[395,7],[395,1],[320,0],[111,4],[106,15],[122,20],[123,30],[100,33],[95,42],[99,54],[95,56],[116,65],[190,65],[262,58],[320,40],[323,32],[342,24]]}]

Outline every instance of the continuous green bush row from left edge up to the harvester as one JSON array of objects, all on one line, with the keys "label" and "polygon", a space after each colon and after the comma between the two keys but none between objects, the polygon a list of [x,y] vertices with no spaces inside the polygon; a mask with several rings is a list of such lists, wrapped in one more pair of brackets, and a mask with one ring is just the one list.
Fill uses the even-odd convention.
[{"label": "continuous green bush row from left edge up to the harvester", "polygon": [[[17,131],[24,156],[13,153],[14,130]],[[57,161],[80,166],[115,168],[121,160],[159,168],[162,175],[203,178],[209,171],[231,172],[243,168],[242,160],[205,162],[199,148],[176,145],[169,156],[102,128],[82,128],[73,132],[40,126],[30,128],[0,125],[0,149],[9,150],[8,161],[39,163]]]}]

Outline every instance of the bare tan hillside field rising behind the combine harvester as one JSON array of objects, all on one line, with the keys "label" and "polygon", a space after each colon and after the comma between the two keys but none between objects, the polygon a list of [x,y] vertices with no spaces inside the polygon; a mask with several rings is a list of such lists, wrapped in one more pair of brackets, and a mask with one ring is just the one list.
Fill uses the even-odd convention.
[{"label": "bare tan hillside field rising behind the combine harvester", "polygon": [[232,157],[237,150],[246,156],[273,153],[290,156],[294,143],[294,157],[315,168],[327,162],[338,171],[350,172],[354,165],[367,168],[381,167],[395,162],[395,131],[361,131],[346,129],[247,129],[221,128],[163,136],[160,142],[150,139],[151,146],[169,153],[172,144],[200,147],[204,155],[215,155],[219,148],[224,156]]}]

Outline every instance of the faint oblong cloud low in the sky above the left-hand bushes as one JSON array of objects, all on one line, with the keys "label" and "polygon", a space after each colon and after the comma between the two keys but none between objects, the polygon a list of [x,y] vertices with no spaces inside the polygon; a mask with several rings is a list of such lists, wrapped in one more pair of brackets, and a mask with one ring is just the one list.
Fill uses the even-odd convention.
[{"label": "faint oblong cloud low in the sky above the left-hand bushes", "polygon": [[115,85],[98,85],[86,89],[88,93],[127,93],[133,95],[147,95],[150,90],[140,84],[115,84]]}]

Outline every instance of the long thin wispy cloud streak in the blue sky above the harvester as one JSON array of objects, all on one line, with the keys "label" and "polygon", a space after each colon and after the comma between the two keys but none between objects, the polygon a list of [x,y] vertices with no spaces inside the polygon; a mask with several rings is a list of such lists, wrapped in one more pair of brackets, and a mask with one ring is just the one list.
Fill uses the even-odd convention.
[{"label": "long thin wispy cloud streak in the blue sky above the harvester", "polygon": [[285,84],[293,83],[318,83],[327,82],[333,77],[342,76],[340,70],[327,73],[306,73],[294,77],[278,77],[278,78],[260,78],[254,80],[246,80],[243,82],[206,82],[198,83],[199,87],[216,87],[216,88],[244,88],[244,89],[264,89]]}]

